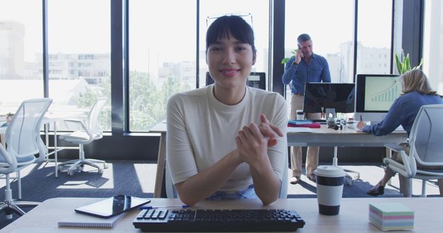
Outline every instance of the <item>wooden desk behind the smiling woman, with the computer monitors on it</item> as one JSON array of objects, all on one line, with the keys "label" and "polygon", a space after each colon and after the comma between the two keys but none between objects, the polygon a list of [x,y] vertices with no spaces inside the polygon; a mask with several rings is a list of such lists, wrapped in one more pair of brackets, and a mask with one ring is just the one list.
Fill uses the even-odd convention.
[{"label": "wooden desk behind the smiling woman, with the computer monitors on it", "polygon": [[[157,171],[154,185],[154,197],[161,197],[161,188],[165,170],[166,159],[166,123],[161,122],[154,125],[149,132],[160,133],[159,154],[157,157]],[[313,132],[288,132],[288,146],[333,146],[334,161],[337,163],[337,146],[376,146],[382,147],[384,143],[401,143],[406,141],[406,132],[393,132],[386,136],[374,136],[365,132],[357,132],[350,128],[343,130],[328,129],[326,125],[321,125],[319,129],[313,129]],[[386,149],[386,154],[390,151]]]}]

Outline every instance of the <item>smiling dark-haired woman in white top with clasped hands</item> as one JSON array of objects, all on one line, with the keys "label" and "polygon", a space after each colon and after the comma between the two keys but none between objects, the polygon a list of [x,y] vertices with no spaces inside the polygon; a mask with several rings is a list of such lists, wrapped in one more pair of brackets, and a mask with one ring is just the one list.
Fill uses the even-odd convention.
[{"label": "smiling dark-haired woman in white top with clasped hands", "polygon": [[215,83],[168,101],[167,159],[183,203],[258,196],[267,205],[278,198],[287,169],[287,105],[278,93],[246,86],[255,59],[251,26],[219,17],[206,34]]}]

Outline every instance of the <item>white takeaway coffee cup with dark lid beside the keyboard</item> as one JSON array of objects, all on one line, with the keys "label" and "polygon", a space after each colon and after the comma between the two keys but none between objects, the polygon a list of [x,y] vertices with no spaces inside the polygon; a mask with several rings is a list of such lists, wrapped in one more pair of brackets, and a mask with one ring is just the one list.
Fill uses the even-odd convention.
[{"label": "white takeaway coffee cup with dark lid beside the keyboard", "polygon": [[340,212],[345,171],[334,165],[321,165],[314,171],[317,183],[318,212],[337,215]]}]

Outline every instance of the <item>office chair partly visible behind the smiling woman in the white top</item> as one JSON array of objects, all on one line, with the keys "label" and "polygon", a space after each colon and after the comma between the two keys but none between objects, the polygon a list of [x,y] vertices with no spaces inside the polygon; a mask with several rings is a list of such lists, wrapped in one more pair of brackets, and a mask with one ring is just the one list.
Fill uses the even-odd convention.
[{"label": "office chair partly visible behind the smiling woman in the white top", "polygon": [[[282,176],[282,185],[280,186],[280,194],[278,194],[279,199],[286,199],[288,196],[288,154],[287,150],[285,150],[284,156],[284,169]],[[168,165],[168,159],[165,161],[165,190],[166,197],[168,199],[177,199],[179,195],[177,194],[177,190],[174,188],[174,184],[172,183],[172,177],[170,173],[170,168]]]}]

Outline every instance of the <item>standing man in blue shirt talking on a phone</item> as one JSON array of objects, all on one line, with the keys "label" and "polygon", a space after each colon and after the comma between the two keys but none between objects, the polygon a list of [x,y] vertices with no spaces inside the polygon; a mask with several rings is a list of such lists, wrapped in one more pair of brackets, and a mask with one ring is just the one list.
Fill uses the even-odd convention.
[{"label": "standing man in blue shirt talking on a phone", "polygon": [[[291,57],[284,66],[282,81],[291,83],[291,119],[296,119],[296,110],[303,109],[305,99],[305,83],[331,82],[329,65],[324,57],[312,52],[312,41],[309,34],[300,34],[297,38],[298,50],[296,56]],[[321,119],[321,113],[308,113],[307,119]],[[306,156],[306,176],[311,181],[316,181],[314,170],[318,166],[318,146],[309,146]],[[291,150],[292,178],[289,183],[296,184],[302,174],[302,148],[292,147]]]}]

